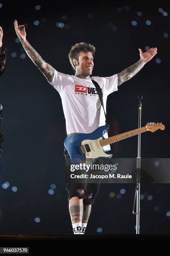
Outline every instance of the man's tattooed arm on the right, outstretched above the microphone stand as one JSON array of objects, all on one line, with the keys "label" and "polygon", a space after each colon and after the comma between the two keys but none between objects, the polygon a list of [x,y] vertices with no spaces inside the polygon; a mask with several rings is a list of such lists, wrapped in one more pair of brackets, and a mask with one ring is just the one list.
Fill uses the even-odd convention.
[{"label": "man's tattooed arm on the right, outstretched above the microphone stand", "polygon": [[155,54],[157,54],[157,48],[151,48],[150,50],[143,52],[141,49],[140,51],[140,60],[133,64],[132,66],[124,69],[122,72],[118,73],[118,86],[125,81],[128,81],[130,78],[134,77],[143,66],[150,61]]}]

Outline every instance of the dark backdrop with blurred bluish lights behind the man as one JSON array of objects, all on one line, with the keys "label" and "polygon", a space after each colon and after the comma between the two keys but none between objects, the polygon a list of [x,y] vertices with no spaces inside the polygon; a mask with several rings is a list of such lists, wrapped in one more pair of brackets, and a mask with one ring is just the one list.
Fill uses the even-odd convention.
[{"label": "dark backdrop with blurred bluish lights behind the man", "polygon": [[[170,106],[169,59],[170,8],[168,3],[130,1],[83,1],[66,4],[52,1],[0,1],[0,26],[7,48],[5,71],[0,78],[0,103],[3,105],[2,129],[5,133],[2,153],[0,191],[1,234],[72,233],[65,191],[63,141],[65,123],[60,95],[50,86],[26,55],[17,38],[13,21],[28,24],[27,40],[56,70],[74,74],[67,57],[72,45],[86,41],[96,47],[93,76],[111,76],[140,59],[138,48],[157,47],[158,54],[132,79],[118,87],[107,99],[110,136],[138,128],[138,95],[143,95],[142,126],[162,122],[165,131],[141,136],[141,157],[169,158]],[[35,6],[40,5],[40,10]],[[122,8],[117,9],[117,8]],[[163,8],[168,16],[158,11]],[[121,10],[121,11],[120,11]],[[137,12],[143,13],[138,16]],[[89,15],[92,14],[92,15]],[[62,15],[67,15],[63,20]],[[89,18],[91,17],[91,18]],[[42,22],[46,18],[46,22]],[[33,22],[39,20],[35,26]],[[131,21],[138,22],[132,26]],[[146,25],[146,20],[151,25]],[[59,28],[56,22],[67,24]],[[69,25],[69,26],[68,26]],[[112,29],[117,27],[117,31]],[[68,28],[67,28],[68,27]],[[13,58],[11,54],[16,52]],[[161,60],[160,64],[156,59]],[[135,158],[138,137],[111,146],[114,157]],[[48,189],[55,184],[54,194]],[[12,187],[18,188],[17,192]],[[120,199],[120,189],[126,192]],[[134,184],[101,184],[92,207],[87,234],[133,234]],[[110,192],[115,197],[110,197]],[[141,184],[140,233],[169,234],[170,185]],[[153,200],[148,200],[148,195]],[[157,207],[157,208],[155,208]],[[157,210],[154,210],[157,209]],[[40,218],[40,223],[35,218]]]}]

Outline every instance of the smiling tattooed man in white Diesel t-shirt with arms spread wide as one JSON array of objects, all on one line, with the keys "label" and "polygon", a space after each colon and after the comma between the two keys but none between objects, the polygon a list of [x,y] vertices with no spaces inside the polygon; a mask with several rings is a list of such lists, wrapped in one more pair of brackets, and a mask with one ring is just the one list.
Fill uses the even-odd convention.
[{"label": "smiling tattooed man in white Diesel t-shirt with arms spread wide", "polygon": [[[100,98],[92,80],[97,82],[102,90],[103,105],[106,111],[107,96],[117,91],[120,84],[135,76],[157,54],[157,48],[151,48],[146,52],[139,49],[140,60],[122,72],[111,77],[90,77],[94,66],[95,47],[82,42],[72,46],[68,54],[70,63],[75,70],[75,75],[69,75],[56,71],[42,59],[26,40],[25,27],[18,25],[17,20],[15,20],[15,31],[30,59],[45,75],[47,81],[60,93],[67,135],[92,133],[99,126],[105,125],[105,112],[101,107]],[[107,134],[105,136],[107,137]],[[103,149],[108,151],[110,146],[104,146]],[[67,154],[65,157],[67,160]],[[84,187],[82,184],[72,184],[70,177],[67,177],[66,189],[74,234],[85,233],[91,205],[98,194],[99,185],[86,184]]]}]

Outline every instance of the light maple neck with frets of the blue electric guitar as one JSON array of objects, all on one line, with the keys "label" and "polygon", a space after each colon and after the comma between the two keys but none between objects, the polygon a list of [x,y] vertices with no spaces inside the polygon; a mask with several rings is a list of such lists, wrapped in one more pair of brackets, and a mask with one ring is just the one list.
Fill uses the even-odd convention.
[{"label": "light maple neck with frets of the blue electric guitar", "polygon": [[133,136],[138,135],[140,133],[144,133],[145,131],[147,131],[147,129],[144,126],[144,127],[132,130],[132,131],[128,131],[127,133],[121,133],[121,134],[118,134],[116,136],[112,136],[110,138],[102,139],[102,141],[100,141],[100,144],[103,147],[103,146],[115,143],[117,141],[122,141],[126,138],[133,137]]}]

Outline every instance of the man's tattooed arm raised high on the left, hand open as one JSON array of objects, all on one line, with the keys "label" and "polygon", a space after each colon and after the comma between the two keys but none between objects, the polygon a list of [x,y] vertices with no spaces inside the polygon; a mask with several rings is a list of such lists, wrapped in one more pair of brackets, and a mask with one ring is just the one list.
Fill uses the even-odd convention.
[{"label": "man's tattooed arm raised high on the left, hand open", "polygon": [[34,64],[41,70],[42,74],[44,74],[47,80],[51,83],[54,76],[54,68],[50,64],[45,62],[40,54],[38,54],[37,51],[35,51],[35,49],[28,43],[28,41],[26,40],[24,25],[18,26],[17,20],[15,20],[14,25],[17,36],[20,39],[20,42],[23,45],[26,53],[34,62]]}]

